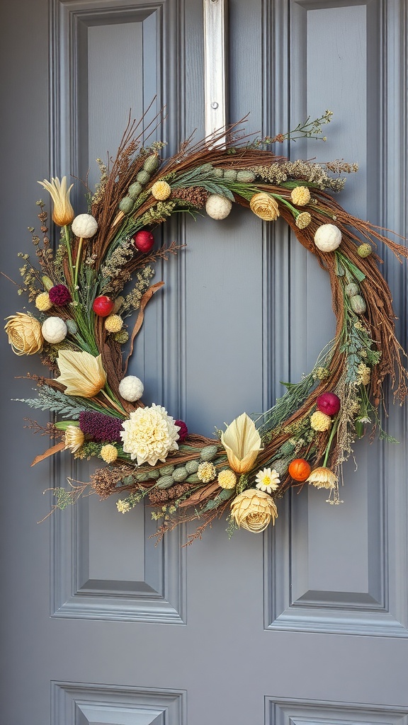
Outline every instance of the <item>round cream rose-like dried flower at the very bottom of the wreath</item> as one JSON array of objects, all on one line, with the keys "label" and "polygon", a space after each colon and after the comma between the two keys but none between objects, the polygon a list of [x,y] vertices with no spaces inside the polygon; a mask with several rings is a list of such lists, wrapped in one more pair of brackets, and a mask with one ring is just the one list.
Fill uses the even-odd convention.
[{"label": "round cream rose-like dried flower at the very bottom of the wreath", "polygon": [[275,523],[277,508],[268,494],[258,489],[247,489],[233,500],[231,514],[241,529],[258,534],[264,531],[271,521]]}]

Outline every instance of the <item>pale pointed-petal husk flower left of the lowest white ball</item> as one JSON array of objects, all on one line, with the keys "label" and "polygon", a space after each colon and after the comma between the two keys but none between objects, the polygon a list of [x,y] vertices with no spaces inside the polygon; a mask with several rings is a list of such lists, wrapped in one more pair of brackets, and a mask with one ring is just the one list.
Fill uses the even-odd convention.
[{"label": "pale pointed-petal husk flower left of the lowest white ball", "polygon": [[67,395],[93,398],[105,387],[102,355],[94,357],[85,351],[60,350],[57,365],[61,373],[57,381],[66,386],[64,392]]}]

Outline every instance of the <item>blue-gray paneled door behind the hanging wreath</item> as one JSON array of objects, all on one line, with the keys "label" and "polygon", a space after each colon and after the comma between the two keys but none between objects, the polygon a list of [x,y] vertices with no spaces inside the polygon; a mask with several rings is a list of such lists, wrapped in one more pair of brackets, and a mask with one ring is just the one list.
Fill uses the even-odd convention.
[{"label": "blue-gray paneled door behind the hanging wreath", "polygon": [[[341,203],[404,234],[407,1],[230,0],[229,117],[278,133],[334,112],[326,144],[293,158],[357,161]],[[201,0],[1,0],[1,264],[19,250],[49,175],[94,173],[128,109],[166,104],[169,152],[203,135]],[[234,210],[167,225],[187,244],[163,269],[134,370],[147,400],[212,434],[265,410],[331,339],[330,288],[284,225]],[[406,343],[404,269],[384,270]],[[23,310],[1,281],[3,317]],[[245,294],[242,294],[242,290]],[[161,293],[160,293],[161,294]],[[148,510],[96,497],[57,512],[68,457],[30,469],[45,439],[23,429],[15,380],[39,364],[1,344],[1,723],[315,725],[408,723],[406,416],[401,441],[356,446],[343,504],[302,491],[273,531],[216,521],[155,547]],[[37,413],[37,412],[36,412]],[[34,417],[34,415],[32,416]],[[38,416],[37,416],[38,417]],[[40,418],[46,422],[46,414]],[[52,502],[52,500],[51,500]]]}]

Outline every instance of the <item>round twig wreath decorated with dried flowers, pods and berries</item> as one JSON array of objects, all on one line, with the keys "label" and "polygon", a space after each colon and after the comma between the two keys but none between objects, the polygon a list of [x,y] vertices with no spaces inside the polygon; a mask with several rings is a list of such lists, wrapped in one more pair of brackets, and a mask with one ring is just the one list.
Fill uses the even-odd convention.
[{"label": "round twig wreath decorated with dried flowers, pods and berries", "polygon": [[[330,115],[295,131],[319,138]],[[94,192],[87,189],[89,213],[75,214],[66,177],[40,182],[52,196],[60,241],[53,252],[39,201],[42,239],[30,229],[36,265],[20,254],[19,291],[36,310],[10,316],[5,329],[17,355],[38,353],[50,370],[46,377],[28,376],[36,381],[36,397],[23,402],[55,414],[46,428],[30,421],[54,439],[33,463],[68,450],[105,464],[88,484],[69,481],[68,489],[54,489],[54,508],[86,491],[102,499],[119,494],[122,513],[146,500],[159,539],[181,521],[197,519],[191,542],[224,513],[229,531],[264,531],[293,486],[327,489],[328,501],[338,503],[340,468],[356,438],[369,430],[385,436],[378,413],[385,377],[394,399],[402,403],[407,395],[391,293],[373,247],[386,244],[400,261],[407,249],[332,198],[343,188],[339,174],[356,165],[289,161],[269,150],[293,132],[251,141],[233,125],[224,146],[223,130],[211,144],[190,138],[160,161],[164,144],[142,146],[136,129],[128,124],[115,159],[107,165],[98,159],[99,183]],[[234,204],[268,223],[281,217],[317,257],[330,276],[337,326],[314,369],[287,384],[274,407],[255,420],[242,413],[208,439],[190,433],[164,407],[144,406],[142,381],[126,371],[144,308],[163,284],[150,283],[153,265],[180,249],[174,242],[155,248],[152,231],[178,212],[206,212],[221,229]]]}]

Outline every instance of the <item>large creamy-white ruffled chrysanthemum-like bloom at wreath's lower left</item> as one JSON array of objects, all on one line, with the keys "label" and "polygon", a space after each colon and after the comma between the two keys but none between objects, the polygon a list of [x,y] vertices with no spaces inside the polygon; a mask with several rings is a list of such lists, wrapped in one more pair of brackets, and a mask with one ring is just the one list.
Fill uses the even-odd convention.
[{"label": "large creamy-white ruffled chrysanthemum-like bloom at wreath's lower left", "polygon": [[130,453],[131,460],[137,458],[137,465],[164,463],[168,453],[179,448],[180,428],[161,405],[134,410],[122,427],[123,450]]}]

